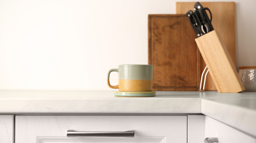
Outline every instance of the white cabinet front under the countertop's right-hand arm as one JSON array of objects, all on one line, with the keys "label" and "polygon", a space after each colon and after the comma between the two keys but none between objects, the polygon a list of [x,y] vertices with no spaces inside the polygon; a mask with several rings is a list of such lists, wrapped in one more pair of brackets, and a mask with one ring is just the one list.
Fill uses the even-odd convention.
[{"label": "white cabinet front under the countertop's right-hand arm", "polygon": [[219,143],[256,143],[255,137],[208,116],[205,116],[205,137],[217,137]]}]

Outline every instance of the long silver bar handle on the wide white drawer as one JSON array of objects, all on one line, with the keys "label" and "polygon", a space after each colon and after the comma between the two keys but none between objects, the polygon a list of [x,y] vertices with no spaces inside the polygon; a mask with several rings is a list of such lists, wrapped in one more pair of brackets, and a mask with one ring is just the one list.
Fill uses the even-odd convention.
[{"label": "long silver bar handle on the wide white drawer", "polygon": [[81,132],[69,129],[67,137],[134,137],[135,130],[125,132]]}]

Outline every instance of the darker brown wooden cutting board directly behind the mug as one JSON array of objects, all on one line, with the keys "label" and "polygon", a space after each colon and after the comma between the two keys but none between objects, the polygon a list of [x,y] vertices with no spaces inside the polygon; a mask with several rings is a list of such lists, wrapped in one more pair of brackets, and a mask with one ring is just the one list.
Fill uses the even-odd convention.
[{"label": "darker brown wooden cutting board directly behind the mug", "polygon": [[185,14],[148,15],[148,63],[153,90],[197,91],[200,52]]}]

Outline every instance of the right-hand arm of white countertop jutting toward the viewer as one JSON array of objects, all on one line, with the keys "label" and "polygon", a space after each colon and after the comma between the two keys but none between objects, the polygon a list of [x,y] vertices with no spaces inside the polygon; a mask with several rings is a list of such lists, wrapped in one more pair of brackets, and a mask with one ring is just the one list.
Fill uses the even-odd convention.
[{"label": "right-hand arm of white countertop jutting toward the viewer", "polygon": [[253,100],[252,106],[255,108],[254,99],[202,99],[202,113],[213,119],[219,120],[233,128],[256,137],[256,110],[238,105],[241,100]]}]

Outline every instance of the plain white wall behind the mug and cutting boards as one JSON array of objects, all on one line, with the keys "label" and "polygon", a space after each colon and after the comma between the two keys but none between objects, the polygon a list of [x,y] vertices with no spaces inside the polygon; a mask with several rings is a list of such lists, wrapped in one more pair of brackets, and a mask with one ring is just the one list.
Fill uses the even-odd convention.
[{"label": "plain white wall behind the mug and cutting boards", "polygon": [[[256,66],[256,0],[231,1],[237,67]],[[148,14],[175,14],[175,2],[0,0],[0,89],[112,90],[107,71],[148,63]]]}]

